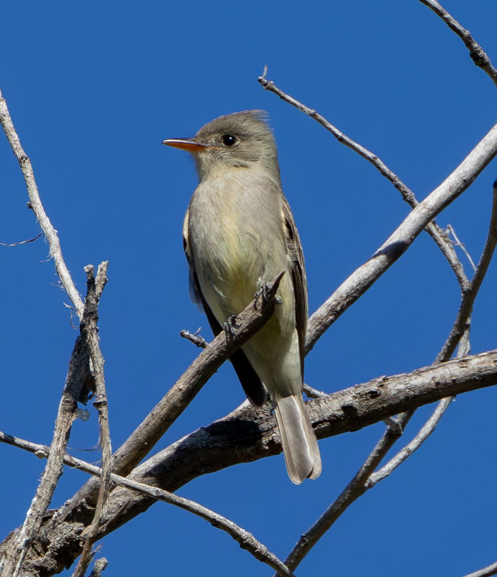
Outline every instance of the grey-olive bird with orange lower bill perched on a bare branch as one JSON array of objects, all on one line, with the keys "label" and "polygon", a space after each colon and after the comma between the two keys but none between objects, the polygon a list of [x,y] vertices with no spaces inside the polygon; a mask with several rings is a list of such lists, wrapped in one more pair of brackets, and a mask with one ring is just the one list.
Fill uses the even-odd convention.
[{"label": "grey-olive bird with orange lower bill perched on a bare branch", "polygon": [[199,186],[183,226],[190,287],[215,335],[256,291],[285,270],[281,305],[230,361],[252,404],[274,406],[290,479],[321,472],[321,458],[302,399],[307,329],[304,256],[292,212],[283,196],[278,152],[261,110],[216,118],[193,138],[162,144],[195,159]]}]

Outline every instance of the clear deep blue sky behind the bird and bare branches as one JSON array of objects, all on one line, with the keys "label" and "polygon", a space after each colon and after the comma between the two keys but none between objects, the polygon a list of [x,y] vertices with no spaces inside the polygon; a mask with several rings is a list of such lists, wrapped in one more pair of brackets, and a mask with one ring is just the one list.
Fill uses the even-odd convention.
[{"label": "clear deep blue sky behind the bird and bare branches", "polygon": [[[494,0],[443,3],[497,64]],[[181,226],[196,186],[184,152],[161,147],[222,114],[267,110],[283,190],[300,231],[311,312],[408,214],[399,193],[322,127],[264,91],[267,77],[378,154],[424,198],[496,122],[496,89],[453,32],[416,0],[397,2],[9,3],[2,9],[0,87],[31,158],[66,263],[109,260],[100,305],[115,448],[195,358],[178,336],[207,321],[189,301]],[[39,232],[23,179],[0,138],[0,242]],[[438,218],[473,260],[483,248],[493,162]],[[470,272],[464,256],[461,258]],[[3,388],[0,430],[48,444],[77,336],[43,239],[0,248]],[[472,351],[496,347],[497,269],[473,316]],[[449,334],[459,290],[421,235],[307,357],[306,381],[332,392],[431,364]],[[229,413],[243,400],[230,366],[160,441]],[[461,395],[429,441],[335,524],[297,575],[458,576],[495,559],[496,392]],[[409,425],[412,437],[430,414]],[[98,440],[96,415],[76,422],[74,455]],[[320,442],[323,474],[297,487],[283,457],[196,479],[179,494],[251,531],[281,558],[347,484],[381,424]],[[407,440],[407,439],[406,439]],[[399,446],[400,448],[400,446]],[[44,462],[0,446],[1,534],[24,518]],[[68,470],[54,507],[85,481]],[[156,504],[109,535],[106,576],[271,575],[221,531]]]}]

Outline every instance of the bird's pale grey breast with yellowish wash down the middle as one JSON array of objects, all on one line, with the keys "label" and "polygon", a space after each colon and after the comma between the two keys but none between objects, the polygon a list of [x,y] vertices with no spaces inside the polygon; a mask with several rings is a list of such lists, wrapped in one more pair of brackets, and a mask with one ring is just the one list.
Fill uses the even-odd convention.
[{"label": "bird's pale grey breast with yellowish wash down the middle", "polygon": [[247,171],[201,182],[190,201],[189,239],[201,289],[216,317],[243,310],[287,268],[281,191]]}]

